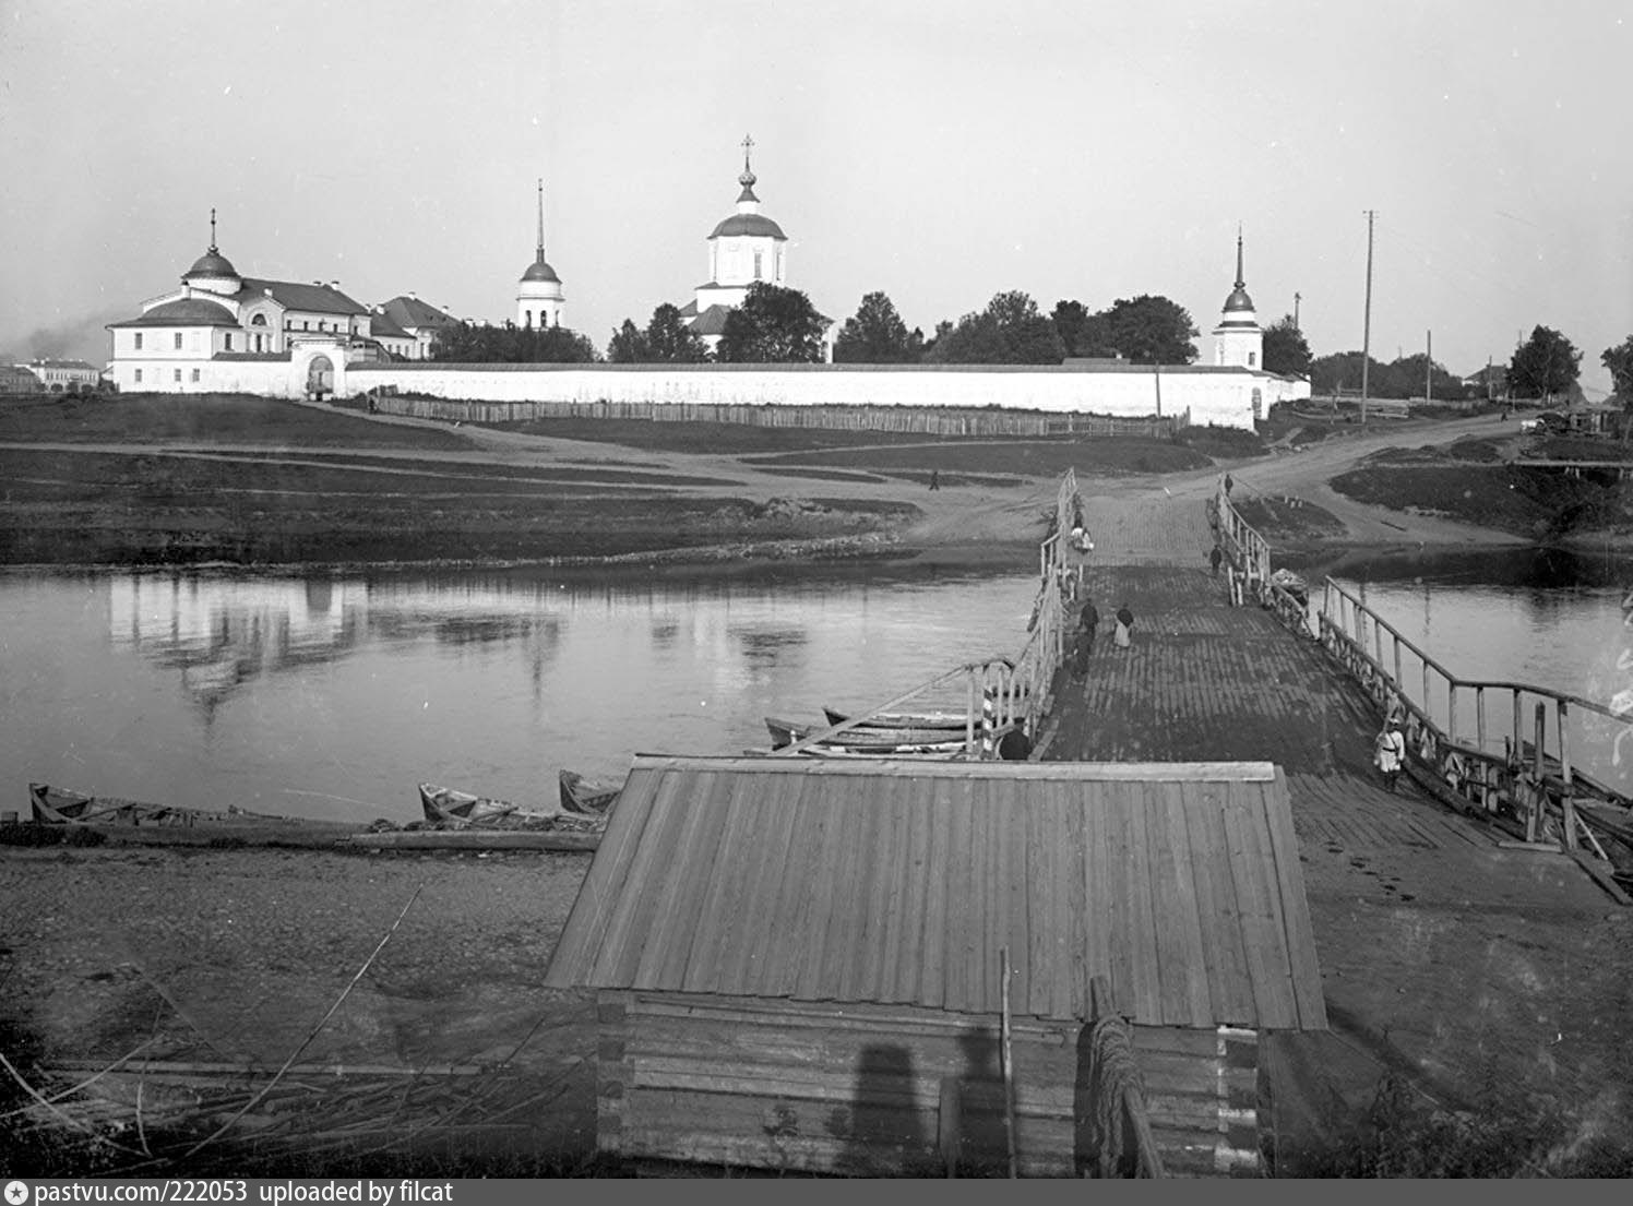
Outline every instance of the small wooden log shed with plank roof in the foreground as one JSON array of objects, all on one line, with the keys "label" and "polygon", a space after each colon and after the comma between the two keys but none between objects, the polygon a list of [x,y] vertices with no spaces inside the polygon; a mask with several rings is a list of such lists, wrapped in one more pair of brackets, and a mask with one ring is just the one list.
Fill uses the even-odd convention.
[{"label": "small wooden log shed with plank roof in the foreground", "polygon": [[[598,1142],[841,1173],[1084,1168],[1091,978],[1169,1173],[1256,1173],[1257,1040],[1326,1028],[1269,764],[637,757],[550,961]],[[957,1116],[949,1116],[952,1110]]]}]

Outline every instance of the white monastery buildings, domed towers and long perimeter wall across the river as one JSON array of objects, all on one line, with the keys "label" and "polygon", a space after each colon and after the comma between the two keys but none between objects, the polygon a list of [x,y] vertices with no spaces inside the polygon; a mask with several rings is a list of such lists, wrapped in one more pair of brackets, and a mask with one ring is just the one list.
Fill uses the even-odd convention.
[{"label": "white monastery buildings, domed towers and long perimeter wall across the river", "polygon": [[[758,178],[743,140],[735,212],[707,237],[709,276],[681,317],[714,351],[725,317],[756,281],[789,284],[789,238],[761,212]],[[562,326],[567,290],[545,259],[544,183],[534,261],[516,284],[518,326]],[[431,361],[446,310],[403,294],[363,305],[338,281],[242,276],[216,242],[181,274],[180,287],[149,297],[140,313],[109,325],[121,392],[256,393],[283,398],[415,393],[503,403],[635,403],[643,406],[919,406],[1182,416],[1197,424],[1251,429],[1310,384],[1264,370],[1262,341],[1243,276],[1212,331],[1212,356],[1186,366],[1071,361],[1058,366],[946,364],[451,364]],[[831,361],[831,326],[826,338]]]}]

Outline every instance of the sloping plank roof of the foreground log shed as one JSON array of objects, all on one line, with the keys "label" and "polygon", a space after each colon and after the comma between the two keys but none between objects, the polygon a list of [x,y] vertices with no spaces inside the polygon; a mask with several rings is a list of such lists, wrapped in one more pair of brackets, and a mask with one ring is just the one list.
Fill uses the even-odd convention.
[{"label": "sloping plank roof of the foreground log shed", "polygon": [[1324,1028],[1262,762],[634,760],[549,987]]}]

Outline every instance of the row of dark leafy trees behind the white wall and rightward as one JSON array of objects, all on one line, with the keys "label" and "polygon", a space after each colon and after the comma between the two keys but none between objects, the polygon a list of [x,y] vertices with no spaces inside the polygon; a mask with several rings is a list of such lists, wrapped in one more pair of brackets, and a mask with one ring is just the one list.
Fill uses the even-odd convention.
[{"label": "row of dark leafy trees behind the white wall and rightward", "polygon": [[[812,364],[823,359],[830,320],[799,289],[756,281],[743,304],[727,312],[720,341],[710,352],[674,305],[652,312],[645,326],[625,318],[612,333],[606,361],[612,364]],[[890,297],[865,294],[844,320],[833,344],[839,364],[1060,364],[1066,357],[1124,359],[1133,364],[1190,364],[1199,335],[1190,313],[1168,297],[1141,294],[1117,299],[1102,310],[1063,299],[1043,313],[1026,292],[994,294],[981,308],[957,321],[946,320],[926,338],[908,328]],[[443,328],[431,359],[465,364],[591,364],[603,356],[588,336],[565,326],[516,326],[503,323],[454,323]],[[1264,328],[1262,367],[1267,372],[1310,377],[1315,393],[1359,393],[1359,351],[1313,357],[1292,315]],[[1511,398],[1569,397],[1577,387],[1582,352],[1550,326],[1532,330],[1507,366],[1465,384],[1426,354],[1403,356],[1390,364],[1365,357],[1367,393],[1375,398],[1422,397],[1424,385],[1437,398],[1479,397],[1488,392]],[[1607,348],[1600,364],[1610,370],[1617,393],[1633,405],[1633,335]]]}]

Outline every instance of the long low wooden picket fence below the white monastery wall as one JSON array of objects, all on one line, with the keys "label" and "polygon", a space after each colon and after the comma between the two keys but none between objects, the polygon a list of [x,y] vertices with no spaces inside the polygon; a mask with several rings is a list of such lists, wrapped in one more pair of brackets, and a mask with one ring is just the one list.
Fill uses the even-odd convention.
[{"label": "long low wooden picket fence below the white monastery wall", "polygon": [[[439,423],[503,426],[536,419],[634,419],[643,423],[740,423],[758,428],[888,431],[914,436],[1091,436],[1169,439],[1189,413],[1169,418],[1115,418],[968,406],[774,406],[663,401],[457,401],[369,392],[364,405],[380,415]],[[356,405],[356,403],[353,403]]]}]

